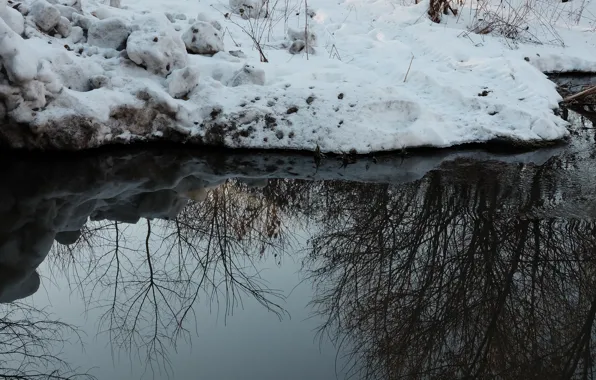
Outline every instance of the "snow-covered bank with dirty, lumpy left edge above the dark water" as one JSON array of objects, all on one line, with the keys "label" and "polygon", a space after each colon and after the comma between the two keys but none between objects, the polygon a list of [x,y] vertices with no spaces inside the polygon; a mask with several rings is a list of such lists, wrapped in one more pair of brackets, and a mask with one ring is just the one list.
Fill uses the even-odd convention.
[{"label": "snow-covered bank with dirty, lumpy left edge above the dark water", "polygon": [[596,70],[592,32],[512,49],[462,31],[463,16],[430,22],[426,2],[51,3],[0,1],[6,146],[367,153],[552,141],[568,132],[540,70]]}]

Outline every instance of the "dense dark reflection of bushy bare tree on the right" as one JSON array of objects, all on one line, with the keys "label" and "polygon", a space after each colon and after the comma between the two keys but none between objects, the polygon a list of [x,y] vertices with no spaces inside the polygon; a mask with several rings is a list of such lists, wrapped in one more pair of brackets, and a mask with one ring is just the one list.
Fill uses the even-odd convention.
[{"label": "dense dark reflection of bushy bare tree on the right", "polygon": [[596,224],[530,217],[556,195],[548,168],[460,162],[337,189],[308,267],[352,375],[594,377]]}]

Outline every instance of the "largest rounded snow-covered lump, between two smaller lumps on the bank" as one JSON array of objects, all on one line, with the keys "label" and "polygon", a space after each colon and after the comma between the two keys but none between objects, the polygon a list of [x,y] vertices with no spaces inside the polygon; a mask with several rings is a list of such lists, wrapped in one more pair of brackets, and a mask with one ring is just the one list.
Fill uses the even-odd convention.
[{"label": "largest rounded snow-covered lump, between two smaller lumps on the bank", "polygon": [[186,66],[184,42],[165,15],[145,16],[136,22],[126,43],[131,61],[163,76]]}]

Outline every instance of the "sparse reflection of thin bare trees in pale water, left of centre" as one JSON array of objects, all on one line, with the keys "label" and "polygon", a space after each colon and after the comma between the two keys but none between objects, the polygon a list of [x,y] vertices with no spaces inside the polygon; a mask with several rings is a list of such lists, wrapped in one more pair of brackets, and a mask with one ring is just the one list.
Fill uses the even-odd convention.
[{"label": "sparse reflection of thin bare trees in pale water, left of centre", "polygon": [[291,204],[305,192],[294,191],[290,203],[287,190],[299,187],[291,181],[246,182],[190,194],[197,201],[172,220],[89,223],[74,244],[54,246],[53,268],[66,271],[90,311],[100,312],[100,332],[114,349],[168,374],[169,350],[200,323],[199,301],[224,319],[246,298],[283,317],[283,295],[267,286],[256,261],[273,257],[281,264],[292,244],[285,224]]}]

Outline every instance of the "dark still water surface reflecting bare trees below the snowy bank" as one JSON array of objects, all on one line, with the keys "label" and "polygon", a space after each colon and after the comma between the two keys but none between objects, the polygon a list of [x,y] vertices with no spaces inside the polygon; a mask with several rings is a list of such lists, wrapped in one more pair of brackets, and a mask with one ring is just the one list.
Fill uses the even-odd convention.
[{"label": "dark still water surface reflecting bare trees below the snowy bank", "polygon": [[596,141],[577,125],[531,153],[318,167],[5,157],[0,378],[593,378]]}]

